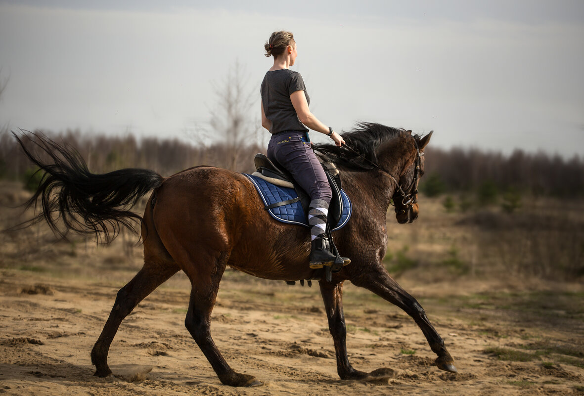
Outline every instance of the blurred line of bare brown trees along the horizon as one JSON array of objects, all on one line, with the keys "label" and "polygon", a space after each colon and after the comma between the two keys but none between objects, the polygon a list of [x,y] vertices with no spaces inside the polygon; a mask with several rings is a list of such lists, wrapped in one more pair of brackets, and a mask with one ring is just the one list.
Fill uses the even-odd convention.
[{"label": "blurred line of bare brown trees along the horizon", "polygon": [[[40,131],[40,133],[43,133]],[[23,133],[33,147],[33,134]],[[237,172],[253,172],[253,155],[266,148],[254,140],[232,144],[193,144],[178,138],[136,138],[131,134],[86,135],[79,131],[49,137],[74,147],[94,173],[121,168],[148,168],[169,176],[197,165],[213,165]],[[237,152],[234,152],[237,150]],[[509,190],[535,196],[562,198],[584,196],[584,163],[575,156],[564,159],[544,152],[516,150],[511,155],[478,149],[429,147],[425,158],[426,175],[420,190],[428,196],[442,193],[481,192],[482,196]],[[23,180],[34,168],[8,131],[0,133],[0,178]]]}]

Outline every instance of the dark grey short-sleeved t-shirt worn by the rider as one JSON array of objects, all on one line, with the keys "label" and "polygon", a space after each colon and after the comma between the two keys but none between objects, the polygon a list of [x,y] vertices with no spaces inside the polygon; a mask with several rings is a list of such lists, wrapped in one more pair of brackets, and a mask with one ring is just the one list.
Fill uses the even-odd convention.
[{"label": "dark grey short-sleeved t-shirt worn by the rider", "polygon": [[296,110],[290,100],[290,95],[296,91],[304,91],[306,100],[310,104],[310,98],[304,86],[304,80],[300,73],[290,69],[280,69],[266,73],[260,87],[262,94],[263,112],[266,118],[272,121],[270,133],[282,131],[304,131],[308,128],[298,119]]}]

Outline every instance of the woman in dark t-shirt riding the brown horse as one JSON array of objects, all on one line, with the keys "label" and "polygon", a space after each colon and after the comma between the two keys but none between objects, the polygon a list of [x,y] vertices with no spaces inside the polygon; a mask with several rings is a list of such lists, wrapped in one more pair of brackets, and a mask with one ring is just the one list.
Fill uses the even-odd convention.
[{"label": "woman in dark t-shirt riding the brown horse", "polygon": [[[290,32],[274,32],[265,44],[266,57],[274,57],[274,65],[263,78],[262,126],[272,133],[267,157],[292,174],[294,180],[310,195],[310,268],[332,265],[336,256],[326,239],[326,217],[331,203],[331,187],[322,165],[310,146],[308,128],[324,133],[340,146],[343,138],[325,126],[310,112],[310,98],[302,76],[290,70],[296,61],[296,41]],[[308,128],[307,128],[308,127]],[[345,259],[345,263],[349,263]]]}]

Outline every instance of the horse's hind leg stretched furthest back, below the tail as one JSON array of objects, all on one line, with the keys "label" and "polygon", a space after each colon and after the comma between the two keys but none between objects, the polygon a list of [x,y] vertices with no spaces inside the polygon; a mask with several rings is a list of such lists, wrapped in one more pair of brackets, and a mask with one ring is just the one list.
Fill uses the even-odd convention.
[{"label": "horse's hind leg stretched furthest back, below the tail", "polygon": [[155,260],[146,259],[142,269],[134,276],[126,286],[117,292],[116,302],[112,312],[103,326],[102,334],[91,350],[91,362],[95,365],[95,376],[106,377],[112,374],[107,366],[107,353],[121,321],[154,289],[164,283],[169,277],[179,270],[176,263],[158,263]]}]

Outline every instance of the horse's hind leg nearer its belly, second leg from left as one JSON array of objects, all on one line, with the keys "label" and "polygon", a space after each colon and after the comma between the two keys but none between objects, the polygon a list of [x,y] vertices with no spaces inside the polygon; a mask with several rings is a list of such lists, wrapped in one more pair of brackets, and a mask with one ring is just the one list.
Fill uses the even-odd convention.
[{"label": "horse's hind leg nearer its belly, second leg from left", "polygon": [[211,363],[221,383],[231,386],[260,385],[261,383],[255,377],[240,374],[231,369],[211,338],[211,311],[215,305],[219,282],[227,260],[227,253],[221,253],[218,257],[200,254],[197,258],[197,262],[201,263],[200,266],[193,266],[185,270],[192,282],[185,326]]}]

